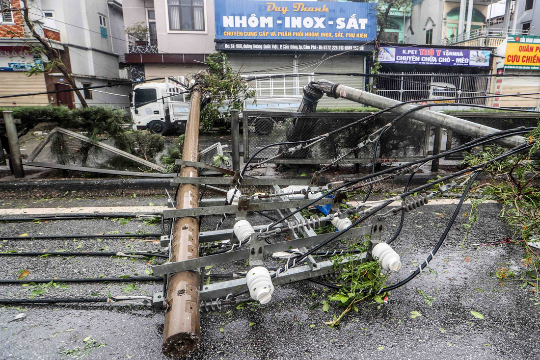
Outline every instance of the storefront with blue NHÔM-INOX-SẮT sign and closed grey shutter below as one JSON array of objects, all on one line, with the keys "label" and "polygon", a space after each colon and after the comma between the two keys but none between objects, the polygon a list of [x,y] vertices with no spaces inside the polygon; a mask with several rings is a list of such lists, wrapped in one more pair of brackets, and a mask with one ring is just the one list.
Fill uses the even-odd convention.
[{"label": "storefront with blue NH\u00d4M-INOX-S\u1eaeT sign and closed grey shutter below", "polygon": [[[340,74],[365,72],[367,55],[375,49],[375,4],[215,0],[214,5],[215,47],[227,53],[234,70],[284,74],[257,81],[259,96],[301,96],[307,81],[321,78],[364,89],[363,76]],[[319,106],[361,105],[323,98]]]}]

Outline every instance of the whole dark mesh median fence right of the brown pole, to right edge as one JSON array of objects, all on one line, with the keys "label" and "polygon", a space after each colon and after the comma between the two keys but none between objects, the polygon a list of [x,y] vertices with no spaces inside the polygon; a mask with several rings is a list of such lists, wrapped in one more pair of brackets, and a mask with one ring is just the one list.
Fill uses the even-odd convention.
[{"label": "whole dark mesh median fence right of the brown pole, to right edge", "polygon": [[[245,111],[243,137],[244,161],[247,162],[255,153],[275,142],[302,141],[325,134],[336,128],[353,123],[371,113],[285,113]],[[536,126],[538,115],[534,113],[514,112],[450,112],[451,116],[487,125],[500,130],[518,126]],[[377,129],[388,124],[394,115],[378,116],[366,123],[350,127],[327,139],[317,142],[306,149],[301,149],[276,159],[267,160],[284,150],[284,146],[271,146],[255,155],[254,161],[274,164],[330,164],[334,159],[345,154],[360,142],[368,139]],[[429,152],[438,149],[450,150],[473,138],[451,130],[442,129],[436,137],[436,127],[422,121],[404,118],[384,133],[377,147],[375,162],[403,162],[426,157]],[[435,141],[438,146],[435,146]],[[292,146],[292,145],[291,145]],[[288,147],[291,147],[288,146]],[[339,162],[342,164],[362,164],[373,161],[374,142],[370,142],[359,151],[347,155]],[[474,149],[482,151],[482,148]],[[462,160],[463,153],[449,155],[445,160]]]}]

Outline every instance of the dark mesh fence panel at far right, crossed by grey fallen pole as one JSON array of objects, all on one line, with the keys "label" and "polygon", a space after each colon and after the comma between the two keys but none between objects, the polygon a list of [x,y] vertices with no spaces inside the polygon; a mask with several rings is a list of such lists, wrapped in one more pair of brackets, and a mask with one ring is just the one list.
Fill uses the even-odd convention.
[{"label": "dark mesh fence panel at far right, crossed by grey fallen pole", "polygon": [[[490,126],[498,130],[509,130],[519,126],[531,127],[538,125],[538,115],[532,113],[486,112],[471,115],[470,112],[451,112],[450,114],[452,116],[464,120],[473,121],[473,123]],[[471,140],[473,140],[472,137],[453,132],[451,133],[451,138],[447,138],[446,148],[455,148]],[[473,152],[473,154],[477,154],[480,153],[482,150],[482,147],[476,147],[473,148],[471,151]],[[461,160],[463,159],[463,152],[452,154],[445,157],[445,159]]]}]

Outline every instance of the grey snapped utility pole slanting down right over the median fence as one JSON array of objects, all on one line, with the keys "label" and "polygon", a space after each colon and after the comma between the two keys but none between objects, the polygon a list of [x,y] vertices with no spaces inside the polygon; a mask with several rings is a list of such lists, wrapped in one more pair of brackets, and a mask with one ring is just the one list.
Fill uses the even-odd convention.
[{"label": "grey snapped utility pole slanting down right over the median fence", "polygon": [[[303,92],[304,96],[302,98],[300,108],[303,109],[305,112],[315,111],[316,103],[322,97],[323,93],[325,93],[328,97],[333,97],[336,99],[343,98],[354,101],[355,103],[374,106],[380,109],[401,104],[401,101],[399,100],[394,100],[371,92],[354,89],[354,87],[349,87],[338,83],[332,83],[332,81],[324,79],[312,82],[304,86]],[[404,112],[414,109],[418,105],[419,104],[404,104],[392,109],[391,112],[395,114],[402,114]],[[426,109],[416,110],[407,117],[409,119],[419,120],[423,123],[440,126],[442,128],[453,130],[460,134],[469,135],[475,138],[489,135],[498,131],[498,129],[496,128],[473,123],[472,121],[456,118],[445,113]],[[524,144],[526,140],[521,136],[515,135],[512,137],[497,140],[497,142],[507,147],[515,147]]]}]

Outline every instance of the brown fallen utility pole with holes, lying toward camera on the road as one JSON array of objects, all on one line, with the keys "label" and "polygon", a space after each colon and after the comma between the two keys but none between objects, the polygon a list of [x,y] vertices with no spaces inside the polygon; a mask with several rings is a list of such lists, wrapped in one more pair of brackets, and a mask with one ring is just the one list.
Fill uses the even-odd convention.
[{"label": "brown fallen utility pole with holes, lying toward camera on the road", "polygon": [[[197,161],[199,157],[199,114],[201,109],[200,86],[191,94],[190,114],[186,125],[183,160]],[[197,178],[198,169],[183,166],[180,176]],[[195,208],[199,205],[196,184],[178,187],[177,209]],[[170,262],[186,261],[199,257],[199,223],[196,218],[180,218],[174,224],[170,246]],[[165,328],[163,348],[165,355],[173,358],[188,356],[199,347],[199,273],[182,271],[171,274],[167,281]]]}]

